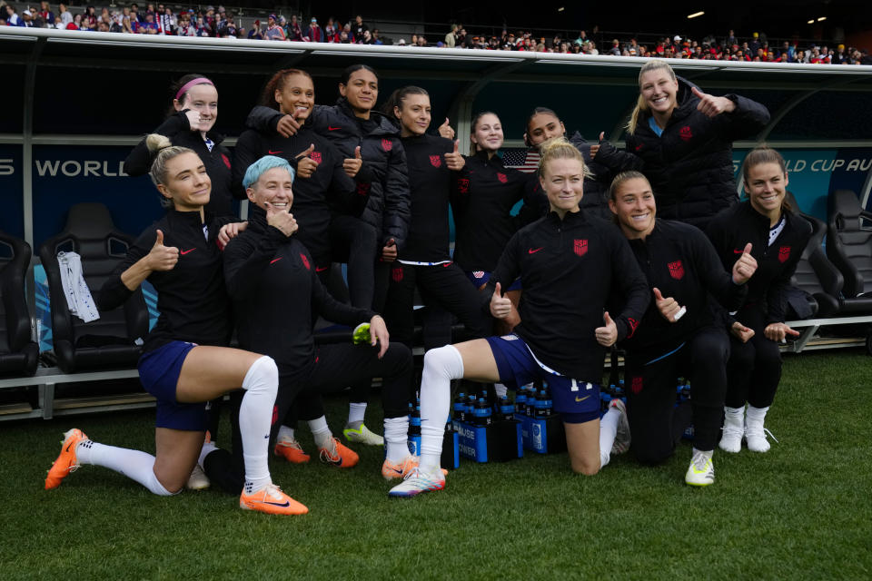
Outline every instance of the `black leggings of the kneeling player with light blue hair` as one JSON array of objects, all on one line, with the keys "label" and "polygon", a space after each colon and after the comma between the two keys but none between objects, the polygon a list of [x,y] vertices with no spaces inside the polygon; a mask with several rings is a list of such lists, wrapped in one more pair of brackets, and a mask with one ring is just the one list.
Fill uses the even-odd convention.
[{"label": "black leggings of the kneeling player with light blue hair", "polygon": [[[321,396],[342,390],[352,381],[363,379],[372,383],[372,378],[381,377],[381,402],[385,418],[401,418],[409,409],[411,384],[411,351],[401,343],[391,346],[379,359],[378,351],[369,345],[348,343],[323,345],[317,351],[315,362],[308,370],[283,368],[279,363],[279,393],[275,399],[273,419],[284,418],[292,404],[300,419],[316,419],[324,415]],[[219,449],[207,456],[203,469],[206,475],[231,494],[243,489],[245,468],[243,440],[239,431],[239,404],[242,390],[233,392],[233,452]],[[273,421],[270,433],[270,450],[275,445],[280,422]]]}]

